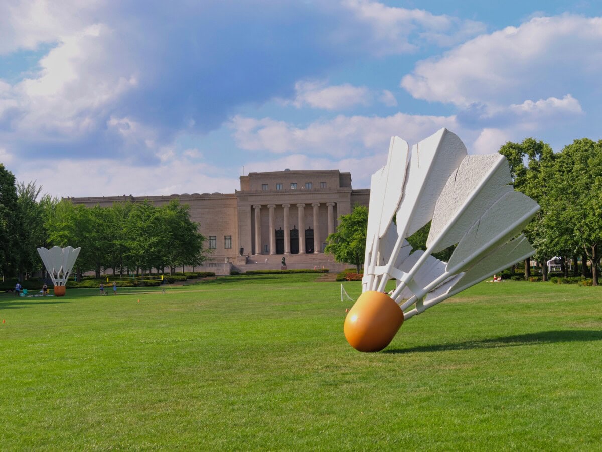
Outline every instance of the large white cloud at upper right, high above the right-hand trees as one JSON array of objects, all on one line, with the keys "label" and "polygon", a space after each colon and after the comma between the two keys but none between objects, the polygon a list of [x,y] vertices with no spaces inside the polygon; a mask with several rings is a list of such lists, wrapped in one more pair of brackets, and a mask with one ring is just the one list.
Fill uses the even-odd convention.
[{"label": "large white cloud at upper right, high above the right-hand trees", "polygon": [[566,96],[602,70],[602,18],[538,17],[421,61],[401,85],[417,99],[467,107]]}]

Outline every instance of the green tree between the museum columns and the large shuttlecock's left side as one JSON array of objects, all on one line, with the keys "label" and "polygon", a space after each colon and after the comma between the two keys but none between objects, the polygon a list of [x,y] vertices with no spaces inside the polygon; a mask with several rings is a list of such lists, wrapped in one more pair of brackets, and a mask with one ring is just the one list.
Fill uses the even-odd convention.
[{"label": "green tree between the museum columns and the large shuttlecock's left side", "polygon": [[337,262],[355,265],[359,273],[366,250],[368,208],[356,204],[353,211],[341,215],[338,222],[337,231],[326,237],[324,252],[332,254]]}]

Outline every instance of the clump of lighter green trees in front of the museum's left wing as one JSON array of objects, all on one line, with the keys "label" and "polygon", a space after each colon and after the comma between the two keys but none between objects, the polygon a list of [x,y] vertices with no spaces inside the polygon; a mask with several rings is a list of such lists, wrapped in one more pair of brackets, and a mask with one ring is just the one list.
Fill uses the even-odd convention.
[{"label": "clump of lighter green trees in front of the museum's left wing", "polygon": [[86,208],[61,200],[45,222],[51,244],[81,247],[78,274],[94,270],[113,273],[124,268],[174,270],[179,265],[199,265],[206,259],[205,237],[190,220],[188,205],[173,200],[164,206],[114,203],[111,207]]}]

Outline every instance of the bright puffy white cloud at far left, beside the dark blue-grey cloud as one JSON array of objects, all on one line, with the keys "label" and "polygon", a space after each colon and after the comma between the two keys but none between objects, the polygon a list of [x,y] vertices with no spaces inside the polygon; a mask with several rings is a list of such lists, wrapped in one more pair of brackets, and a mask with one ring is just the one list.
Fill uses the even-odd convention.
[{"label": "bright puffy white cloud at far left, beside the dark blue-grey cloud", "polygon": [[[71,141],[105,125],[108,105],[137,85],[134,69],[104,64],[111,29],[95,24],[62,37],[40,60],[40,72],[0,85],[2,114],[17,110],[12,138]],[[109,126],[117,124],[111,119]],[[124,125],[120,132],[125,135]]]}]

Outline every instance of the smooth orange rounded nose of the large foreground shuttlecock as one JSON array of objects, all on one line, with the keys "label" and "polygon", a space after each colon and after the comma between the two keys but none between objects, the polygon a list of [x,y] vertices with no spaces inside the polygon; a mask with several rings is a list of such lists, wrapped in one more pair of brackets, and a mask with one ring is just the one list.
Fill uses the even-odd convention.
[{"label": "smooth orange rounded nose of the large foreground shuttlecock", "polygon": [[345,317],[345,338],[359,351],[379,351],[397,334],[403,323],[402,308],[380,292],[364,292]]}]

